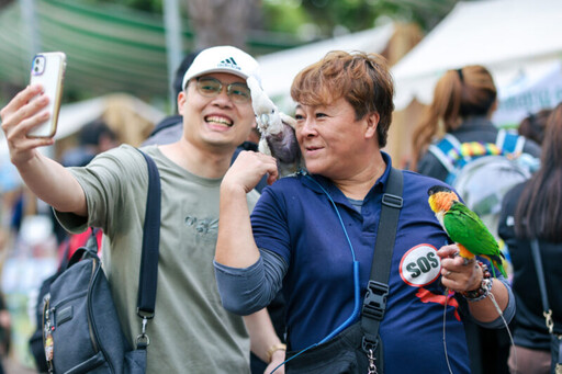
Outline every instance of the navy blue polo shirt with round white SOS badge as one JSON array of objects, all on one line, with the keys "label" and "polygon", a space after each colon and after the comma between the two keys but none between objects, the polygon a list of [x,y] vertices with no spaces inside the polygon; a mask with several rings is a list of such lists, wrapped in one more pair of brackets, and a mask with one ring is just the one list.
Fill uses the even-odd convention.
[{"label": "navy blue polo shirt with round white SOS badge", "polygon": [[[329,180],[319,175],[283,178],[263,190],[251,214],[256,243],[289,264],[283,281],[288,340],[292,350],[317,343],[353,309],[352,254],[338,215],[318,186],[334,200],[355,256],[364,295],[373,257],[381,199],[391,167],[364,197],[361,213]],[[314,178],[314,181],[312,180]],[[443,287],[437,250],[448,243],[427,202],[442,182],[404,171],[404,206],[393,251],[390,296],[380,335],[385,373],[448,373],[443,349]],[[462,301],[461,301],[462,303]],[[453,373],[469,373],[459,302],[448,301],[447,352]]]}]

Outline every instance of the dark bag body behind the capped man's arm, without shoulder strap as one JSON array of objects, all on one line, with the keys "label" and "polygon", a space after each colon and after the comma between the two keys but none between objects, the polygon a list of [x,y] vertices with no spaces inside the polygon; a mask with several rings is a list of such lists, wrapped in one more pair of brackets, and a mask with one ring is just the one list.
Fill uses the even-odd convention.
[{"label": "dark bag body behind the capped man's arm, without shoulder strap", "polygon": [[125,371],[125,353],[132,349],[122,332],[93,235],[50,283],[42,317],[49,373]]}]

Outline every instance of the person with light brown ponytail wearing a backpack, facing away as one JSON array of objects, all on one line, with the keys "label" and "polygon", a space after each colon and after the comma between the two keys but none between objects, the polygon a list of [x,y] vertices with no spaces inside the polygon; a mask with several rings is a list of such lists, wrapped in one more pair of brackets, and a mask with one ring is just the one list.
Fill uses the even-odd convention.
[{"label": "person with light brown ponytail wearing a backpack, facing away", "polygon": [[[409,168],[420,174],[446,181],[449,171],[428,150],[429,146],[437,144],[446,134],[453,135],[460,143],[495,144],[499,129],[492,123],[491,117],[496,106],[497,89],[485,67],[471,65],[445,72],[435,87],[432,102],[414,129]],[[522,151],[539,157],[540,146],[532,140],[526,140]],[[507,332],[483,329],[470,322],[464,326],[472,372],[507,373],[510,345]]]}]

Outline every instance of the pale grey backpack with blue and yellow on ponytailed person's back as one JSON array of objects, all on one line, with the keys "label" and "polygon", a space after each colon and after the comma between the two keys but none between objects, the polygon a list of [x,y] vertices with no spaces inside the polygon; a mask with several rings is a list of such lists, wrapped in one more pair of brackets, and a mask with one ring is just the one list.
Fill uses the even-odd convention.
[{"label": "pale grey backpack with blue and yellow on ponytailed person's back", "polygon": [[501,129],[496,143],[460,143],[447,134],[429,146],[449,174],[450,184],[498,239],[497,226],[504,195],[530,178],[539,160],[522,154],[525,137]]}]

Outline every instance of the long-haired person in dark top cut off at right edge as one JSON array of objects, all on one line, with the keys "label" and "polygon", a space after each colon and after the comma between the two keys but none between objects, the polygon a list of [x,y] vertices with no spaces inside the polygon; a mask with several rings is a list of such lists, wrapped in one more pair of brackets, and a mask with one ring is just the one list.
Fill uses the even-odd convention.
[{"label": "long-haired person in dark top cut off at right edge", "polygon": [[540,287],[530,248],[539,240],[554,333],[562,333],[562,103],[548,117],[540,169],[504,199],[499,237],[514,269],[517,303],[515,347],[509,352],[512,374],[549,374],[550,336],[544,322]]}]

